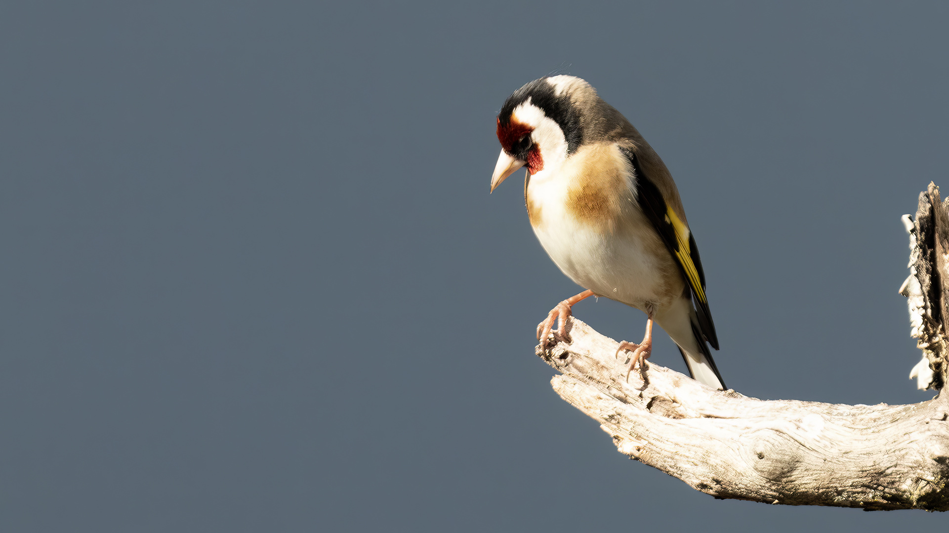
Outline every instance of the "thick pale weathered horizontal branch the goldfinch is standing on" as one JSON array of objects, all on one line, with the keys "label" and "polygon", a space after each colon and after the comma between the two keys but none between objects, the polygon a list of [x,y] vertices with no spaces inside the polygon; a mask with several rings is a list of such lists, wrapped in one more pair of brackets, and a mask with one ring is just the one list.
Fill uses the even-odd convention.
[{"label": "thick pale weathered horizontal branch the goldfinch is standing on", "polygon": [[620,452],[716,498],[949,509],[949,401],[842,405],[716,391],[655,364],[625,379],[618,343],[571,318],[537,355],[554,391]]}]

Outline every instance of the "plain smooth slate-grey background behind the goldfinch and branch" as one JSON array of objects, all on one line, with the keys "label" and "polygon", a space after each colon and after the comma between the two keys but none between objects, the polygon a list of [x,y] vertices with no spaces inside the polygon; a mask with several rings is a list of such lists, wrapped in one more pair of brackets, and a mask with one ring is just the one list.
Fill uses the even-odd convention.
[{"label": "plain smooth slate-grey background behind the goldfinch and branch", "polygon": [[533,356],[578,288],[488,194],[504,99],[586,78],[676,176],[730,386],[927,399],[899,217],[949,186],[944,5],[78,4],[0,5],[0,529],[946,524],[619,454]]}]

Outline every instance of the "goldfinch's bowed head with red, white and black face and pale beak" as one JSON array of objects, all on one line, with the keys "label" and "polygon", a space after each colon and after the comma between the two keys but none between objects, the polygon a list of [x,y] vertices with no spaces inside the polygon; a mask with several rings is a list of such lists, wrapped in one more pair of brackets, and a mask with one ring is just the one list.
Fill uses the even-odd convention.
[{"label": "goldfinch's bowed head with red, white and black face and pale beak", "polygon": [[593,87],[573,76],[527,83],[508,97],[497,114],[497,158],[491,190],[517,169],[535,175],[560,166],[584,140],[581,103],[599,100]]}]

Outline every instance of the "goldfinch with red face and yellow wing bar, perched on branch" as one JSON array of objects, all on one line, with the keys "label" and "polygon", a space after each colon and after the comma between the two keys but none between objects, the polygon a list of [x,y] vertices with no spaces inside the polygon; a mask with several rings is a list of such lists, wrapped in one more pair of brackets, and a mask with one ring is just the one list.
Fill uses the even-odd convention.
[{"label": "goldfinch with red face and yellow wing bar, perched on branch", "polygon": [[718,349],[718,338],[696,239],[672,175],[640,132],[585,80],[556,75],[508,97],[497,139],[491,192],[527,167],[530,226],[554,264],[585,289],[537,325],[541,347],[551,334],[568,339],[574,304],[605,297],[646,314],[642,341],[623,340],[616,352],[632,352],[627,380],[652,353],[655,322],[693,378],[725,390],[709,350]]}]

